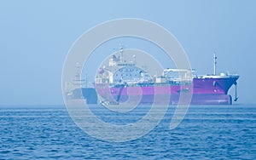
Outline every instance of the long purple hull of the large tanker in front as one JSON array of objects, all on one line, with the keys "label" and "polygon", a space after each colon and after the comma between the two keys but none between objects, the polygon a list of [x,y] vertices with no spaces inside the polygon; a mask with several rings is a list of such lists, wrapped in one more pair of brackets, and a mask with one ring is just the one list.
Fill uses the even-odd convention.
[{"label": "long purple hull of the large tanker in front", "polygon": [[[228,94],[230,87],[236,84],[238,76],[229,77],[195,77],[193,85],[174,85],[169,83],[142,85],[120,85],[109,87],[108,84],[96,86],[96,92],[102,100],[114,103],[139,100],[139,104],[177,105],[180,94],[192,94],[192,99],[180,104],[191,105],[230,105],[232,98]],[[157,96],[157,99],[154,99]]]}]

